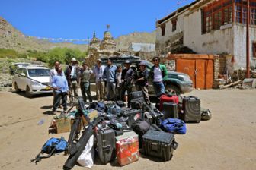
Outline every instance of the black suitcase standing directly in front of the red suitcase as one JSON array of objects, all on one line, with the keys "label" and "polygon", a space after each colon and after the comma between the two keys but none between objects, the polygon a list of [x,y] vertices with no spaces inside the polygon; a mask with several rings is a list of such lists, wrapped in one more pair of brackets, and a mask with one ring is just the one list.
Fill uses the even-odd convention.
[{"label": "black suitcase standing directly in front of the red suitcase", "polygon": [[166,118],[178,118],[178,105],[174,102],[164,102],[162,106],[162,113],[164,119]]}]

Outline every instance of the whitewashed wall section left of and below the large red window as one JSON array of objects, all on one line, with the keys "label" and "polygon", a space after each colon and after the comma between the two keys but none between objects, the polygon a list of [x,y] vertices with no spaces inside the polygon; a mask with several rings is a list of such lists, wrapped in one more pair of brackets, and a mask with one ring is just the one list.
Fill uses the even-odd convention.
[{"label": "whitewashed wall section left of and below the large red window", "polygon": [[202,33],[201,11],[184,17],[184,46],[201,54],[233,54],[232,27]]}]

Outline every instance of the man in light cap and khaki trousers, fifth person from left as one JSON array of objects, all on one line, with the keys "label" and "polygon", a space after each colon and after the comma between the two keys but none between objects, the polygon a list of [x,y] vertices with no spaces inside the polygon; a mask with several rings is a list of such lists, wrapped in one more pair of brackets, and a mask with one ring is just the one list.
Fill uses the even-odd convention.
[{"label": "man in light cap and khaki trousers, fifth person from left", "polygon": [[104,66],[101,65],[101,59],[97,60],[97,63],[93,69],[93,74],[95,75],[95,82],[96,82],[96,96],[98,101],[104,100],[104,80],[103,80],[103,72]]}]

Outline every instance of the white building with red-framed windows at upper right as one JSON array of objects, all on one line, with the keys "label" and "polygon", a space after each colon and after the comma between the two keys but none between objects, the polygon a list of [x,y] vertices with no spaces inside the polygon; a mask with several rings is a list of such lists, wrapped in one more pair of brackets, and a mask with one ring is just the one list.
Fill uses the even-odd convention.
[{"label": "white building with red-framed windows at upper right", "polygon": [[[246,65],[246,0],[197,0],[156,22],[155,51],[187,47],[201,54],[228,54]],[[250,63],[256,64],[256,0],[250,0]]]}]

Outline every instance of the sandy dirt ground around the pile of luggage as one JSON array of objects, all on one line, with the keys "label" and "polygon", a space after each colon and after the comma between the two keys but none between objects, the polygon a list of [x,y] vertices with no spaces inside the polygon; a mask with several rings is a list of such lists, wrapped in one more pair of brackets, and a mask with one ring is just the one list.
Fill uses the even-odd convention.
[{"label": "sandy dirt ground around the pile of luggage", "polygon": [[[179,146],[171,161],[141,156],[122,169],[256,169],[256,90],[195,90],[188,95],[198,96],[213,118],[187,124],[187,134],[175,135]],[[67,159],[62,153],[30,163],[50,137],[69,136],[48,134],[52,99],[0,92],[0,169],[62,169]],[[41,119],[45,122],[37,125]],[[91,169],[119,168],[117,162],[101,165],[96,159]]]}]

